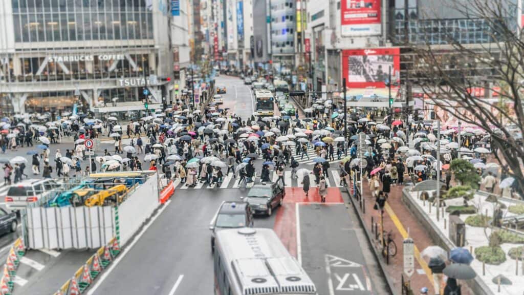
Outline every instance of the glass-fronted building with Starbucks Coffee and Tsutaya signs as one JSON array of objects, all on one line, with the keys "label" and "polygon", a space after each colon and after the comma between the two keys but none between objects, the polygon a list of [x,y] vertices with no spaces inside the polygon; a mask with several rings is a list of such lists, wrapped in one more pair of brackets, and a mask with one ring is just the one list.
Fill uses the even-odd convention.
[{"label": "glass-fronted building with Starbucks Coffee and Tsutaya signs", "polygon": [[150,103],[169,96],[158,79],[172,75],[167,0],[3,2],[0,93],[10,111],[140,109],[146,82]]}]

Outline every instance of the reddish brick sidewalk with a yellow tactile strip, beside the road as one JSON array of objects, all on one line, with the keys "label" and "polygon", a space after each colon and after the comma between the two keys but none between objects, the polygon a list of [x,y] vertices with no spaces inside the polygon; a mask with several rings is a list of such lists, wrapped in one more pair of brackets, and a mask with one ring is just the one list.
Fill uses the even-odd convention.
[{"label": "reddish brick sidewalk with a yellow tactile strip, beside the road", "polygon": [[[386,231],[392,230],[394,235],[395,244],[397,245],[397,255],[390,257],[389,265],[386,265],[386,272],[390,276],[390,280],[395,285],[394,288],[399,293],[401,292],[401,277],[403,273],[403,239],[408,236],[411,237],[415,244],[415,272],[411,277],[411,288],[414,294],[418,294],[422,287],[428,287],[430,294],[435,294],[433,276],[429,270],[425,261],[420,258],[420,251],[425,248],[434,245],[430,236],[426,233],[425,229],[418,223],[417,219],[409,212],[406,206],[402,203],[402,188],[404,186],[391,186],[391,192],[389,193],[388,201],[384,211],[384,229]],[[375,199],[372,197],[369,191],[367,181],[364,181],[364,198],[366,214],[364,215],[365,226],[369,231],[372,231],[371,218],[373,216],[374,222],[379,223],[380,212],[373,209]],[[378,227],[378,225],[377,225]],[[378,227],[378,230],[379,227]],[[374,240],[374,243],[378,249],[380,249],[379,239]],[[385,258],[383,260],[385,262]],[[473,295],[471,291],[462,284],[463,295]],[[441,286],[443,288],[443,286]],[[443,290],[443,289],[442,289]],[[440,292],[443,294],[443,292]]]}]

